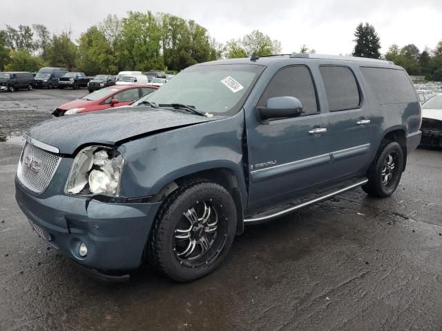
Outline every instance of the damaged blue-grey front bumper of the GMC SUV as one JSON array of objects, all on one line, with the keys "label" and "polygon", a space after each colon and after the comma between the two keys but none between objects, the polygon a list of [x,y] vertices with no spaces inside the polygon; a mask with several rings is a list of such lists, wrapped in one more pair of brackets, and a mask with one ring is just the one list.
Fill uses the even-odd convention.
[{"label": "damaged blue-grey front bumper of the GMC SUV", "polygon": [[[64,256],[102,274],[133,270],[142,263],[160,203],[103,203],[61,194],[42,199],[23,188],[17,177],[15,189],[22,212],[47,232],[48,243]],[[88,248],[84,258],[78,253],[81,242]]]}]

